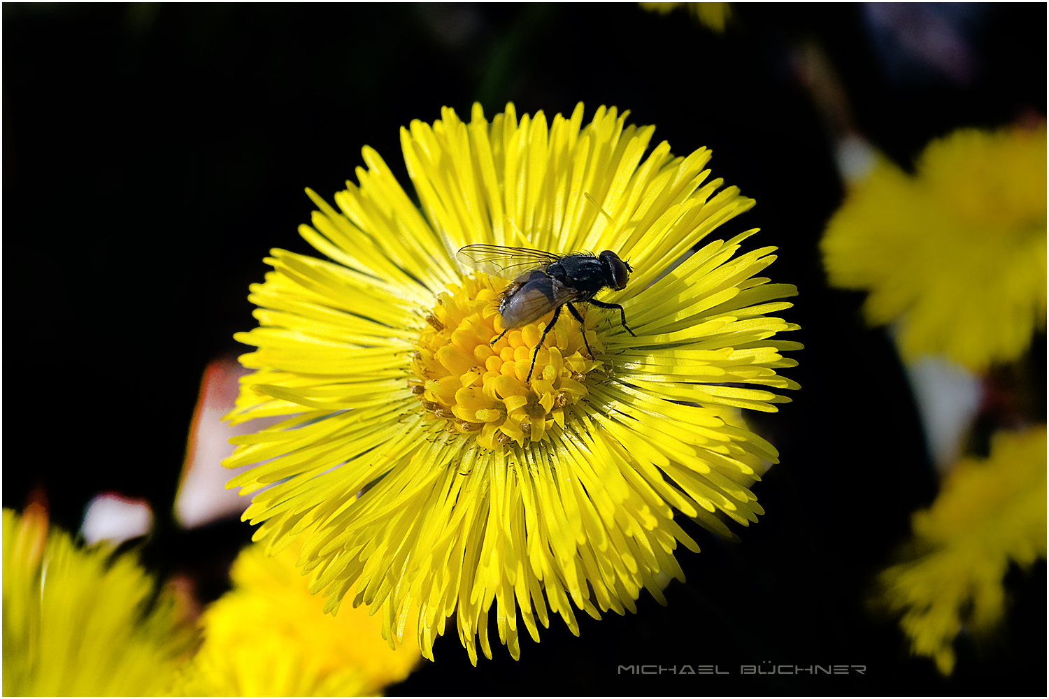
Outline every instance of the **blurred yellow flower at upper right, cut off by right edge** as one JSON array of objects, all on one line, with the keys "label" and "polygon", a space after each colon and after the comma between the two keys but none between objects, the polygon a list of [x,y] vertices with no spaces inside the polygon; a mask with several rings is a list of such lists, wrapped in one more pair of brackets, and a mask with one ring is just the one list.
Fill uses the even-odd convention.
[{"label": "blurred yellow flower at upper right, cut off by right edge", "polygon": [[870,290],[872,325],[902,321],[905,358],[979,371],[1019,357],[1045,327],[1045,125],[957,131],[913,176],[880,160],[821,246],[833,285]]}]

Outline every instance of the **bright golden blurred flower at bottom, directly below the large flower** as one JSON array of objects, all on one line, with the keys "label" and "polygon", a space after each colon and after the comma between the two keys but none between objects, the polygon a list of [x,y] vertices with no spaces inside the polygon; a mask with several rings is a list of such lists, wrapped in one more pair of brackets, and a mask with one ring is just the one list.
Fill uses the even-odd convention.
[{"label": "bright golden blurred flower at bottom, directly below the large flower", "polygon": [[408,676],[414,639],[391,650],[382,619],[365,608],[338,617],[295,569],[298,551],[276,558],[256,544],[231,570],[234,589],[201,618],[205,642],[178,684],[185,696],[372,696]]}]

